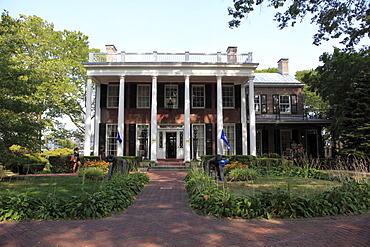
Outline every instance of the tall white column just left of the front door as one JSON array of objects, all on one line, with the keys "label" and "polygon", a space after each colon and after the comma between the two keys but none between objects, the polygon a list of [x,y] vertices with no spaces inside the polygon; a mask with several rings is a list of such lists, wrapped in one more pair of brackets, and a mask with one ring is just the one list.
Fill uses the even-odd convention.
[{"label": "tall white column just left of the front door", "polygon": [[152,113],[150,124],[150,160],[157,161],[157,76],[152,77]]}]

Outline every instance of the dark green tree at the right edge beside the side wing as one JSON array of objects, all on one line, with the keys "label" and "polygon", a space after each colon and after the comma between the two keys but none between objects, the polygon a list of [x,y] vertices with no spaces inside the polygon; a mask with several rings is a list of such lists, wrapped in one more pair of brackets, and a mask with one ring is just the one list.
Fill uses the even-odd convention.
[{"label": "dark green tree at the right edge beside the side wing", "polygon": [[310,85],[333,109],[331,133],[343,144],[345,153],[370,151],[370,49],[369,47],[324,53],[324,65],[308,73],[303,81]]}]

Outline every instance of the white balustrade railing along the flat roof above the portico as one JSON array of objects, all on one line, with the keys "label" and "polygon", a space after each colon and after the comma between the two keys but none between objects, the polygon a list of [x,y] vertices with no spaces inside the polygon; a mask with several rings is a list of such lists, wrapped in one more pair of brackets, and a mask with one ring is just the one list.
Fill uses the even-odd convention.
[{"label": "white balustrade railing along the flat roof above the portico", "polygon": [[252,63],[252,53],[94,53],[89,62],[190,62],[190,63]]}]

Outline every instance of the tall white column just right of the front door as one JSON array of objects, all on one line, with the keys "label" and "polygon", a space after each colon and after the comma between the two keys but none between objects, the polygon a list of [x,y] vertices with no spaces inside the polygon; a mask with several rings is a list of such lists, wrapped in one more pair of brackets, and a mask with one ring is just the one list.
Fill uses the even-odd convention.
[{"label": "tall white column just right of the front door", "polygon": [[190,76],[185,76],[184,160],[190,161]]}]

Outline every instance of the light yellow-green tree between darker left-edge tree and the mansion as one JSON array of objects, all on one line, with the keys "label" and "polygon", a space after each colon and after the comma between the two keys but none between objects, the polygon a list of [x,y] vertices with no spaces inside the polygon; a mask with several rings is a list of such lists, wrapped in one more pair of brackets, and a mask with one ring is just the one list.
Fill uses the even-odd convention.
[{"label": "light yellow-green tree between darker left-edge tree and the mansion", "polygon": [[20,15],[12,21],[17,28],[4,39],[12,36],[23,42],[13,56],[21,62],[19,68],[32,71],[39,83],[29,97],[44,105],[37,117],[56,130],[56,119],[66,116],[83,133],[85,69],[81,62],[88,59],[88,37],[77,31],[56,31],[52,23],[37,16]]}]

